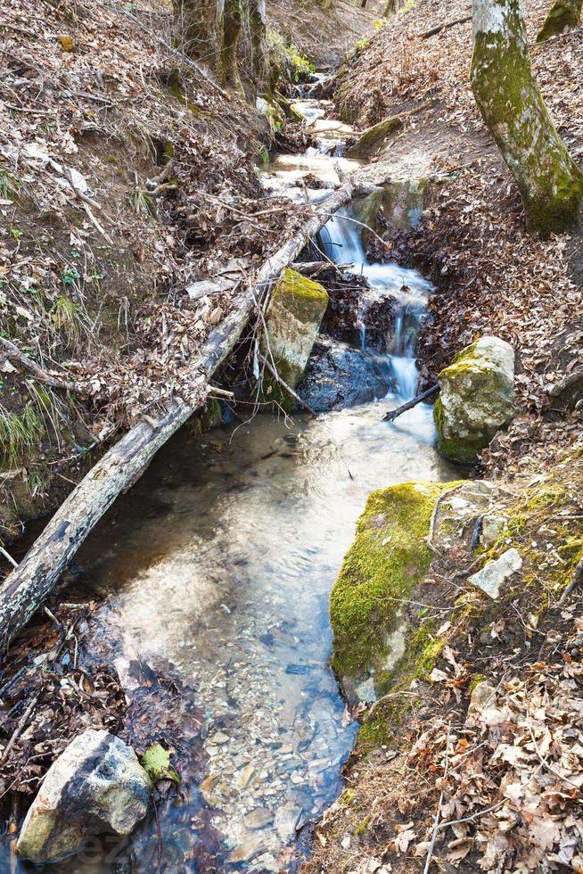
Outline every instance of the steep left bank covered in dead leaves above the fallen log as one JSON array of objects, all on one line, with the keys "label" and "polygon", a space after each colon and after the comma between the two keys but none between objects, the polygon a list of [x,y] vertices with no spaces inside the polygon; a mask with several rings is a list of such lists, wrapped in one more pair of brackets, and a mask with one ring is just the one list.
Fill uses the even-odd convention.
[{"label": "steep left bank covered in dead leaves above the fallen log", "polygon": [[[90,450],[187,395],[201,342],[305,218],[265,209],[269,124],[168,48],[169,7],[40,6],[10,2],[0,23],[0,317],[53,381],[0,365],[4,542],[62,499]],[[220,295],[186,293],[222,271]]]}]

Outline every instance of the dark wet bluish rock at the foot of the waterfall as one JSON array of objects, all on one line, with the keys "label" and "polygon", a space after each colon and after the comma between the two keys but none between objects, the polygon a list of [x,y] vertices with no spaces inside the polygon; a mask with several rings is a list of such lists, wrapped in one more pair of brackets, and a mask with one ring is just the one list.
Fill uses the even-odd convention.
[{"label": "dark wet bluish rock at the foot of the waterfall", "polygon": [[383,398],[391,382],[386,359],[319,337],[298,394],[324,412]]}]

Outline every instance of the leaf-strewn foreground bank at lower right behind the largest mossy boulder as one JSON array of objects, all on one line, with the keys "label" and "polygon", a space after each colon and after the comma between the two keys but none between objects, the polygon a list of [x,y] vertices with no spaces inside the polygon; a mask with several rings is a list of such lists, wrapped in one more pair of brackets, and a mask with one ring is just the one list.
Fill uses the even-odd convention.
[{"label": "leaf-strewn foreground bank at lower right behind the largest mossy boulder", "polygon": [[[438,516],[406,604],[431,658],[360,714],[306,874],[421,871],[430,854],[429,870],[583,870],[582,487],[580,447],[498,487],[488,548],[473,516]],[[493,601],[468,575],[508,548],[521,569]]]}]

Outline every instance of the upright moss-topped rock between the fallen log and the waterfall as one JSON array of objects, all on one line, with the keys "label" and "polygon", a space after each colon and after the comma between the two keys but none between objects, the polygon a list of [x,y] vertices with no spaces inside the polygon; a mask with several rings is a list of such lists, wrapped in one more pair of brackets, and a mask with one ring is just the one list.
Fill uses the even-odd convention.
[{"label": "upright moss-topped rock between the fallen log and the waterfall", "polygon": [[[292,389],[306,369],[324,312],[328,293],[324,287],[290,268],[275,284],[267,309],[267,336],[263,336],[263,354],[275,365],[283,382]],[[293,400],[268,374],[264,377],[266,400],[291,408]]]}]

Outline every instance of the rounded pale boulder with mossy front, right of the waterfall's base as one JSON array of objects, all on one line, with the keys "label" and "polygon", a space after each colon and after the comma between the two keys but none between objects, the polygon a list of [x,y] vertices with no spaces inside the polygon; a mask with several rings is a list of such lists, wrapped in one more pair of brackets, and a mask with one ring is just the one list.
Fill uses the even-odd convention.
[{"label": "rounded pale boulder with mossy front, right of the waterfall's base", "polygon": [[514,350],[498,337],[481,337],[438,376],[434,407],[439,451],[472,464],[514,415]]}]

